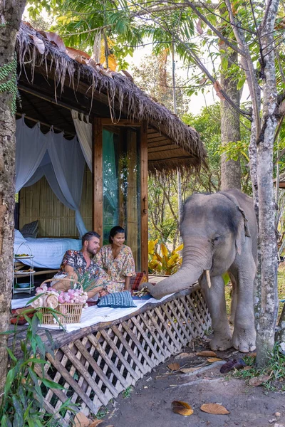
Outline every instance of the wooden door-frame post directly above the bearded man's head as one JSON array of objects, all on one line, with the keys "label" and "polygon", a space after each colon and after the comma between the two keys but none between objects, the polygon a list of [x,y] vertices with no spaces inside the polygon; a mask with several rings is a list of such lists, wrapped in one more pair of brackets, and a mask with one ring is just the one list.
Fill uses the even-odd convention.
[{"label": "wooden door-frame post directly above the bearded man's head", "polygon": [[93,122],[93,230],[103,244],[103,127],[100,119]]}]

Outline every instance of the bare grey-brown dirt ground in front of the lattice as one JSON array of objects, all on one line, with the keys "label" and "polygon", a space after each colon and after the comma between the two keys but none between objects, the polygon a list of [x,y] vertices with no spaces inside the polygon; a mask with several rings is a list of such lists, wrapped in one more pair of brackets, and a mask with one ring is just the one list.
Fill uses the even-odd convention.
[{"label": "bare grey-brown dirt ground in front of the lattice", "polygon": [[[108,405],[108,413],[100,426],[114,427],[285,427],[285,392],[266,391],[264,386],[249,386],[244,379],[221,374],[224,362],[209,364],[197,352],[209,349],[209,339],[197,339],[181,353],[153,369],[133,389],[120,394]],[[217,352],[227,361],[244,354],[234,349]],[[195,372],[171,371],[167,365],[177,362],[181,368],[200,366]],[[173,413],[172,401],[185,401],[194,409],[191,416]],[[222,404],[228,415],[201,411],[202,404]]]}]

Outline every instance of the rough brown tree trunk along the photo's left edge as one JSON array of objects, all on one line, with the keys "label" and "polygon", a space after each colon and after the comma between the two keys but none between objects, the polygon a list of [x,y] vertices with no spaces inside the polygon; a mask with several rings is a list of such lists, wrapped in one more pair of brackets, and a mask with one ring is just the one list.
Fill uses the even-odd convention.
[{"label": "rough brown tree trunk along the photo's left edge", "polygon": [[[15,206],[15,42],[26,0],[0,0],[0,330],[9,328]],[[6,381],[6,336],[0,335],[0,395]]]}]

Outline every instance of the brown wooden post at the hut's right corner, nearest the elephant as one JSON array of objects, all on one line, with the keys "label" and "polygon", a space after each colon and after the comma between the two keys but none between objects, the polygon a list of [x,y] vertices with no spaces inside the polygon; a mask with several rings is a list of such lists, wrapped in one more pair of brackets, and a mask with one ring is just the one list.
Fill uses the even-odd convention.
[{"label": "brown wooden post at the hut's right corner, nearest the elephant", "polygon": [[147,122],[140,128],[140,216],[141,216],[141,266],[148,273],[148,215],[147,215]]}]

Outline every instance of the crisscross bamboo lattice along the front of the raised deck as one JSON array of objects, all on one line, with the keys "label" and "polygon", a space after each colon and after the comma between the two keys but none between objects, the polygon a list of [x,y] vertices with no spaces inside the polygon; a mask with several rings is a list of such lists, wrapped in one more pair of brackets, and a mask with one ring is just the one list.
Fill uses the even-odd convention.
[{"label": "crisscross bamboo lattice along the front of the raised deck", "polygon": [[[201,337],[210,324],[204,298],[195,285],[123,319],[88,327],[80,334],[63,334],[63,345],[57,339],[54,357],[46,355],[45,374],[65,391],[46,392],[46,411],[55,413],[70,397],[78,410],[97,413],[187,342]],[[41,369],[36,373],[41,376]],[[62,425],[68,426],[69,419],[67,412]]]}]

